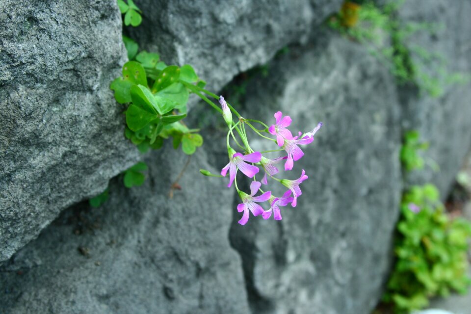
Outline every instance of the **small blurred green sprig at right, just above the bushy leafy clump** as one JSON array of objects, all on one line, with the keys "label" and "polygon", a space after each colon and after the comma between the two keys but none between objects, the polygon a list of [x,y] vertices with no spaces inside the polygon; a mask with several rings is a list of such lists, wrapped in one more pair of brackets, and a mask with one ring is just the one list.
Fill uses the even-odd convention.
[{"label": "small blurred green sprig at right, just above the bushy leafy clump", "polygon": [[428,149],[427,142],[420,142],[418,131],[407,131],[404,135],[404,143],[400,152],[402,167],[406,171],[422,169],[424,159],[420,156],[419,150]]}]

